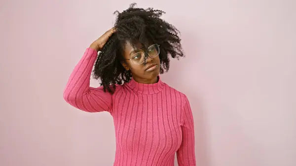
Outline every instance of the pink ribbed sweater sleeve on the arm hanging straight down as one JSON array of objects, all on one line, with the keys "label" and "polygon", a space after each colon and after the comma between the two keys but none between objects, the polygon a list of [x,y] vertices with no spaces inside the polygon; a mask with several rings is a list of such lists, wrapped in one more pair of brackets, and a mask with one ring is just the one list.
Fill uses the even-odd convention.
[{"label": "pink ribbed sweater sleeve on the arm hanging straight down", "polygon": [[185,97],[185,105],[181,113],[182,143],[177,151],[179,166],[196,166],[194,151],[194,123],[189,101]]}]

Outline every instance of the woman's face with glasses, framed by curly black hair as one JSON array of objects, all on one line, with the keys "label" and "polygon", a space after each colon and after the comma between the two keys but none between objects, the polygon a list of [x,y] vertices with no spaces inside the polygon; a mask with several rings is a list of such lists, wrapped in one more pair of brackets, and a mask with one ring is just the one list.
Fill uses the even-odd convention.
[{"label": "woman's face with glasses, framed by curly black hair", "polygon": [[159,75],[159,47],[156,44],[153,44],[147,46],[147,52],[150,56],[148,56],[148,54],[145,56],[145,51],[141,49],[141,44],[133,47],[130,42],[126,42],[123,52],[125,63],[122,63],[122,65],[126,70],[131,70],[135,80],[149,81],[155,79]]}]

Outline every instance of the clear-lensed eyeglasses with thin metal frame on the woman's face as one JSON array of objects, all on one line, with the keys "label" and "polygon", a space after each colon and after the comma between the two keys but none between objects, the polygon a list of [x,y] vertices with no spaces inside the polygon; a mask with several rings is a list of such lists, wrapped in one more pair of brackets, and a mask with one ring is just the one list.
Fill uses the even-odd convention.
[{"label": "clear-lensed eyeglasses with thin metal frame on the woman's face", "polygon": [[131,55],[130,59],[126,59],[129,61],[132,61],[135,65],[142,65],[146,59],[145,54],[148,54],[150,58],[155,58],[159,55],[159,45],[158,44],[153,44],[150,45],[147,49],[147,52],[137,52],[133,55]]}]

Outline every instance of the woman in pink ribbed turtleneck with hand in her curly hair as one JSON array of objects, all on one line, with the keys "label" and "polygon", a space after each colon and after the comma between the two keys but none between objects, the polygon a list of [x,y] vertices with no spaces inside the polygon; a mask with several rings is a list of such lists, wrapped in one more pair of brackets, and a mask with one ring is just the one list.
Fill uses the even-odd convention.
[{"label": "woman in pink ribbed turtleneck with hand in her curly hair", "polygon": [[[169,56],[183,56],[179,32],[160,19],[163,11],[134,5],[117,11],[114,28],[86,49],[64,99],[83,111],[111,113],[114,166],[174,166],[176,152],[179,166],[195,166],[189,102],[159,77]],[[89,87],[94,64],[99,88]]]}]

